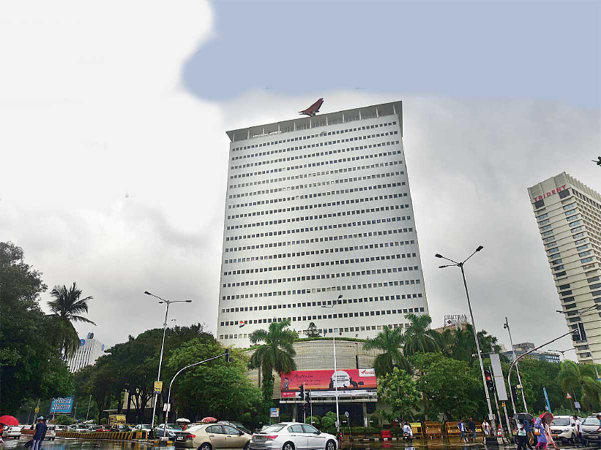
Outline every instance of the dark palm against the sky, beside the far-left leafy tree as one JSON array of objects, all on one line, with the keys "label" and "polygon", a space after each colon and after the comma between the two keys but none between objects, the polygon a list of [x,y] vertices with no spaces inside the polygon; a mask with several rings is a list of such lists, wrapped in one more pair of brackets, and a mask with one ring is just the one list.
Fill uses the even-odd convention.
[{"label": "dark palm against the sky, beside the far-left leafy tree", "polygon": [[48,302],[52,316],[55,319],[55,340],[56,344],[63,353],[63,358],[67,359],[76,352],[79,347],[79,336],[73,322],[85,322],[96,325],[90,319],[81,316],[88,312],[88,301],[92,296],[81,298],[81,289],[73,283],[69,289],[67,286],[55,286],[50,292],[54,298]]}]

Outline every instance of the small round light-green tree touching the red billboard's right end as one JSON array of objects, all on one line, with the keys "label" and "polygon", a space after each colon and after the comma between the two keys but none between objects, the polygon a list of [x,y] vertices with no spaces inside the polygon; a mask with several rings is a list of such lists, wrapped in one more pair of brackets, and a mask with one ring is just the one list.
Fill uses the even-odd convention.
[{"label": "small round light-green tree touching the red billboard's right end", "polygon": [[389,419],[407,420],[413,417],[419,402],[419,392],[413,377],[398,367],[380,377],[378,400],[390,406]]}]

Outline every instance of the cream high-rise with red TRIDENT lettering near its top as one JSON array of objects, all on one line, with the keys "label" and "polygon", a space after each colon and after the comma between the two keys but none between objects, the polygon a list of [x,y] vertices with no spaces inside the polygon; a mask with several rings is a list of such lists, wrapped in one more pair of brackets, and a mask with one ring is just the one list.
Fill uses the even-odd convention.
[{"label": "cream high-rise with red TRIDENT lettering near its top", "polygon": [[528,194],[567,325],[581,331],[573,342],[578,361],[599,364],[601,195],[566,172]]}]

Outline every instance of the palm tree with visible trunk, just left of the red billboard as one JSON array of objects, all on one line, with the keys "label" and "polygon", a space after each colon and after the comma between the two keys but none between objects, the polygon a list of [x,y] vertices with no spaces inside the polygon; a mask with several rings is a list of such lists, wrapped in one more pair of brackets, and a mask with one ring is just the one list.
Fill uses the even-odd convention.
[{"label": "palm tree with visible trunk, just left of the red billboard", "polygon": [[296,331],[288,329],[290,319],[272,322],[269,331],[257,329],[250,335],[253,344],[263,343],[252,353],[250,368],[260,369],[263,374],[263,400],[271,404],[273,398],[273,371],[279,374],[296,370],[292,346],[298,337]]}]

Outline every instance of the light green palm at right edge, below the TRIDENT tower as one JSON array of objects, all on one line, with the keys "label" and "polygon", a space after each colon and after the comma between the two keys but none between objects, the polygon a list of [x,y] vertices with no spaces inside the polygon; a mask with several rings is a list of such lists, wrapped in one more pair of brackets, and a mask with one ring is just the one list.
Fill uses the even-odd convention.
[{"label": "light green palm at right edge, below the TRIDENT tower", "polygon": [[557,380],[561,388],[572,395],[580,392],[582,406],[588,410],[598,409],[601,400],[601,383],[597,381],[594,364],[576,364],[573,361],[561,362]]}]

